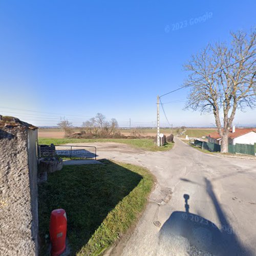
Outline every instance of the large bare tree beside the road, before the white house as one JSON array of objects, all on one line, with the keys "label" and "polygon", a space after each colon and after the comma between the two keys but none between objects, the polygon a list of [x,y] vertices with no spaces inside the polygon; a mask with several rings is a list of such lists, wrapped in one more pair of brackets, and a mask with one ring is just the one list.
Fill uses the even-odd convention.
[{"label": "large bare tree beside the road, before the white house", "polygon": [[254,108],[255,88],[255,30],[247,35],[231,33],[230,46],[208,45],[193,55],[184,68],[190,71],[185,85],[193,83],[186,108],[212,112],[221,137],[221,152],[228,152],[228,133],[236,111]]}]

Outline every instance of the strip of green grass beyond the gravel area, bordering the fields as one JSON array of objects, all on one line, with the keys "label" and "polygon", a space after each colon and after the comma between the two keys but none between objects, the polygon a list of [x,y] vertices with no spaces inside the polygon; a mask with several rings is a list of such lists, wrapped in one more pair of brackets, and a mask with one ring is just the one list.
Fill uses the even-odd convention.
[{"label": "strip of green grass beyond the gravel area, bordering the fields", "polygon": [[141,148],[146,151],[166,151],[170,150],[174,143],[166,143],[165,145],[158,147],[155,146],[153,139],[54,139],[54,138],[39,138],[39,144],[50,145],[64,145],[68,143],[89,143],[89,142],[119,142],[129,144],[133,147]]}]

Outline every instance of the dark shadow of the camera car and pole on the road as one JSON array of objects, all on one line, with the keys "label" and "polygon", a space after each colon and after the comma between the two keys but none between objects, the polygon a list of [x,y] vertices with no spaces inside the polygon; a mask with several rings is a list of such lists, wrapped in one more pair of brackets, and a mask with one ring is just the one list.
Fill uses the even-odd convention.
[{"label": "dark shadow of the camera car and pole on the road", "polygon": [[170,246],[177,247],[170,252],[178,254],[185,250],[189,255],[251,255],[234,234],[215,196],[211,182],[206,178],[205,187],[215,206],[221,228],[202,216],[189,212],[189,195],[185,194],[185,211],[174,211],[170,215],[160,230],[160,244],[166,244],[168,241]]}]

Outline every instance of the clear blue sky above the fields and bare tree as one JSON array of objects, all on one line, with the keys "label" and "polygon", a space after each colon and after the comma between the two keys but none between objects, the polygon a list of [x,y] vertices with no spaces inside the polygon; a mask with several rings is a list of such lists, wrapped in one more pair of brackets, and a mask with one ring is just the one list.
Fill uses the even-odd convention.
[{"label": "clear blue sky above the fields and bare tree", "polygon": [[[230,30],[249,31],[255,9],[248,0],[2,0],[0,113],[35,125],[55,125],[60,116],[80,125],[98,112],[120,126],[129,118],[152,125],[156,97],[182,85],[183,63],[207,42],[228,41]],[[170,123],[212,125],[212,115],[183,111],[186,94],[162,98],[178,101],[165,105]],[[234,122],[256,123],[255,110],[238,112]]]}]

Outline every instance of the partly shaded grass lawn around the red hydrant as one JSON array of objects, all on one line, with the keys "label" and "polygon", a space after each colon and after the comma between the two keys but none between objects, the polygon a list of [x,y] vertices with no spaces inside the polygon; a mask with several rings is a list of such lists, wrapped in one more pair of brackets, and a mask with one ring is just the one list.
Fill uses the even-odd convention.
[{"label": "partly shaded grass lawn around the red hydrant", "polygon": [[136,224],[154,185],[145,168],[108,160],[63,166],[38,186],[41,255],[46,253],[53,209],[67,212],[71,254],[97,255]]}]

